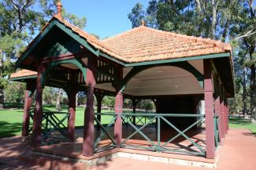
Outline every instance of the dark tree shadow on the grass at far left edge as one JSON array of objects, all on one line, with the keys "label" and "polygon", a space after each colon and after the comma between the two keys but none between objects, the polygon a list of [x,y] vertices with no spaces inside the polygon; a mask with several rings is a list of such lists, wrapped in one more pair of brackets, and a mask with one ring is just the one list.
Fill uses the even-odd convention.
[{"label": "dark tree shadow on the grass at far left edge", "polygon": [[7,121],[0,121],[0,138],[17,136],[17,132],[20,132],[22,123],[9,123]]}]

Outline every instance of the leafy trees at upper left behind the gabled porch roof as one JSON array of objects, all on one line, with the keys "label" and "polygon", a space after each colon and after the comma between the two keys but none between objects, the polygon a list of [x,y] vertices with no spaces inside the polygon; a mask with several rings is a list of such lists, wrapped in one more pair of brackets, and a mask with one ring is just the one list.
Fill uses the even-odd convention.
[{"label": "leafy trees at upper left behind the gabled porch roof", "polygon": [[[56,10],[57,0],[0,0],[0,108],[4,103],[4,89],[14,61],[28,42],[46,24]],[[78,27],[85,27],[86,18],[66,13],[63,16]]]}]

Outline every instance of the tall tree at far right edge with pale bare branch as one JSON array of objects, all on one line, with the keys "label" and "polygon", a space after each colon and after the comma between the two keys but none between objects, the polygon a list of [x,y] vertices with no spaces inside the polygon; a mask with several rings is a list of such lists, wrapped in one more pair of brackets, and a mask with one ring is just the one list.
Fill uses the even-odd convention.
[{"label": "tall tree at far right edge with pale bare branch", "polygon": [[[253,1],[243,2],[243,8],[236,13],[236,27],[232,27],[235,40],[239,42],[240,60],[243,60],[244,74],[250,79],[250,121],[256,121],[256,76],[255,76],[255,47],[256,47],[256,9]],[[245,87],[246,82],[243,82]]]}]

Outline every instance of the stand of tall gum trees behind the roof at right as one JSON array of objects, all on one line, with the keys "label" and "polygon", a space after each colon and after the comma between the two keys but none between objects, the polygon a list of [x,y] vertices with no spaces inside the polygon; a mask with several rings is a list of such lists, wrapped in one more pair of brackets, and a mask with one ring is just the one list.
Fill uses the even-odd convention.
[{"label": "stand of tall gum trees behind the roof at right", "polygon": [[[146,13],[144,18],[149,27],[232,42],[236,99],[229,101],[230,104],[235,104],[232,108],[240,107],[236,102],[242,101],[244,114],[247,111],[247,102],[250,101],[250,112],[253,115],[251,118],[256,120],[256,8],[253,4],[253,0],[151,0],[147,13],[141,6],[138,8],[138,5],[135,5],[128,15],[132,17],[128,18],[132,22],[132,27],[138,27],[138,20]],[[154,19],[154,26],[149,24],[150,17]]]}]

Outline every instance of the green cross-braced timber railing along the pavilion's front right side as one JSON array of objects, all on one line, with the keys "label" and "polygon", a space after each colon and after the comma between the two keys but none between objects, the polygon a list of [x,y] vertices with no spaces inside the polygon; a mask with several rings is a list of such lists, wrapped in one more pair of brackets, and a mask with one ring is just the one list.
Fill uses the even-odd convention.
[{"label": "green cross-braced timber railing along the pavilion's front right side", "polygon": [[[100,121],[97,119],[97,115],[101,116],[111,116],[112,119],[109,121],[109,124],[102,125]],[[196,143],[193,139],[191,139],[189,136],[187,136],[185,133],[190,130],[191,128],[195,127],[196,125],[204,123],[205,115],[204,114],[139,114],[139,113],[122,113],[121,119],[123,124],[130,125],[133,128],[132,134],[127,136],[125,139],[121,141],[121,147],[122,148],[135,148],[135,149],[142,149],[142,150],[152,150],[157,152],[180,152],[184,154],[195,154],[195,155],[205,155],[206,151],[203,149],[202,146],[200,146],[198,143]],[[189,125],[187,128],[180,130],[175,125],[173,125],[172,122],[168,120],[170,117],[179,117],[179,118],[196,118],[196,121]],[[133,121],[133,118],[137,118],[137,121]],[[141,121],[142,118],[145,118],[145,121]],[[114,122],[117,119],[117,114],[115,113],[98,113],[95,114],[95,121],[100,125],[102,128],[102,131],[98,138],[95,140],[95,152],[106,150],[109,148],[113,148],[116,146],[116,141],[114,140],[113,134],[109,131],[109,128],[113,126]],[[139,121],[140,120],[140,121]],[[161,141],[161,121],[165,122],[166,125],[169,125],[170,128],[174,129],[177,134],[170,137],[165,142]],[[141,122],[140,125],[138,125],[138,122]],[[215,122],[215,121],[214,121]],[[143,128],[146,128],[149,125],[156,124],[157,128],[157,140],[152,141],[147,134],[143,132]],[[136,126],[137,125],[137,126]],[[113,132],[112,132],[113,133]],[[98,144],[102,140],[102,136],[106,136],[111,140],[111,143],[109,143],[106,146],[102,146],[98,148]],[[145,139],[149,145],[142,146],[142,145],[133,145],[132,143],[128,143],[129,139],[132,139],[136,134],[140,134],[140,136]],[[169,144],[172,143],[175,139],[177,139],[179,136],[183,136],[185,139],[187,139],[192,146],[195,146],[195,148],[183,148],[183,150],[177,150],[177,148],[169,147]],[[166,137],[166,136],[165,136]]]}]

